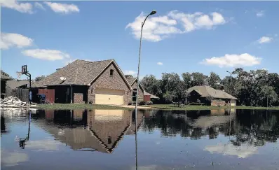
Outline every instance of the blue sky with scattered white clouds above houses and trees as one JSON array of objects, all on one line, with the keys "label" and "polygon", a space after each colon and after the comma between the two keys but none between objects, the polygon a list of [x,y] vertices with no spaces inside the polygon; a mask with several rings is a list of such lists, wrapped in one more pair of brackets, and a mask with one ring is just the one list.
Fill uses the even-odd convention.
[{"label": "blue sky with scattered white clouds above houses and trees", "polygon": [[279,73],[278,1],[1,0],[1,69],[48,75],[74,59],[115,59],[141,76],[236,67]]}]

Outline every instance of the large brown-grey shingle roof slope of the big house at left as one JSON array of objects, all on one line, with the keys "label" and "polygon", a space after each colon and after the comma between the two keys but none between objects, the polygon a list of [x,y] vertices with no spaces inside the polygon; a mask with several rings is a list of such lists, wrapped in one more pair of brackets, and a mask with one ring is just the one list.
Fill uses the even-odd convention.
[{"label": "large brown-grey shingle roof slope of the big house at left", "polygon": [[[88,62],[77,59],[46,76],[43,80],[34,83],[33,87],[43,87],[46,85],[88,85],[113,61],[114,59]],[[60,77],[64,77],[66,80],[63,82],[60,80]]]}]

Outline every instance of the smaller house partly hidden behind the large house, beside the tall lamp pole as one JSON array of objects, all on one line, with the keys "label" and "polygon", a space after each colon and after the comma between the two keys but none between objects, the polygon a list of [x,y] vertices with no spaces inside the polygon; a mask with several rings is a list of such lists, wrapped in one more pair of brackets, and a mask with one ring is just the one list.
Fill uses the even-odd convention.
[{"label": "smaller house partly hidden behind the large house, beside the tall lamp pole", "polygon": [[[137,97],[137,78],[127,78],[128,82],[132,87],[132,101],[135,103]],[[144,90],[144,87],[140,84],[139,99],[138,101],[152,101],[154,99],[159,99],[159,97],[154,96]]]}]

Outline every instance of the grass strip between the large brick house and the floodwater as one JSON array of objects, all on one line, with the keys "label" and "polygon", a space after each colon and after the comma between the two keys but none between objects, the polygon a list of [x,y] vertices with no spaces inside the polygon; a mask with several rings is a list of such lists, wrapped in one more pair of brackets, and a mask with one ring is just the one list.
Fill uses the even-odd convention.
[{"label": "grass strip between the large brick house and the floodwater", "polygon": [[38,108],[41,109],[55,109],[55,110],[72,110],[72,109],[124,109],[129,110],[130,108],[123,108],[118,106],[107,106],[97,104],[38,104]]}]

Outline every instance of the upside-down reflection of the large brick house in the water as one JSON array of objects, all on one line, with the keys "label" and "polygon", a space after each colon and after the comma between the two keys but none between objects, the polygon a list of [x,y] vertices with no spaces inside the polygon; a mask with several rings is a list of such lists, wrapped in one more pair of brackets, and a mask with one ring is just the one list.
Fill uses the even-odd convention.
[{"label": "upside-down reflection of the large brick house in the water", "polygon": [[[135,134],[135,112],[124,110],[46,111],[43,129],[73,150],[113,153],[125,135]],[[143,113],[137,115],[137,127]]]}]

